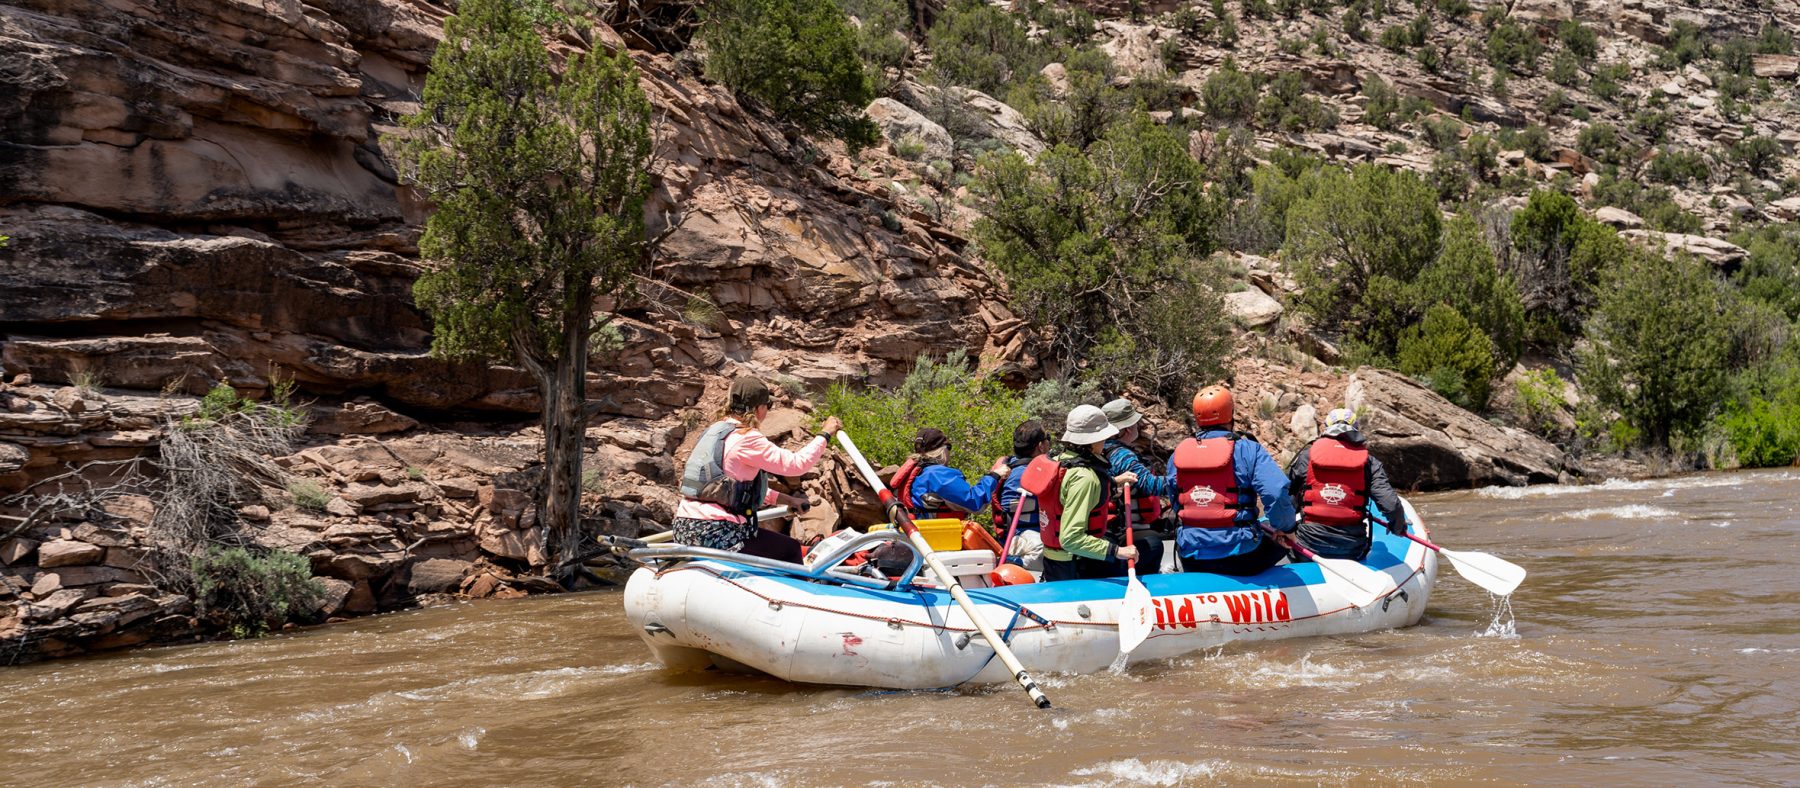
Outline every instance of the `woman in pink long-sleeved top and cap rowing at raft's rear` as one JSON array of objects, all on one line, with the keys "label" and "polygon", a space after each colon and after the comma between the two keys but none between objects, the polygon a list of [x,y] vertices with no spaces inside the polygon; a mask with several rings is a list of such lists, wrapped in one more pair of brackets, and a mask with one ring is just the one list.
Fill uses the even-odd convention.
[{"label": "woman in pink long-sleeved top and cap rowing at raft's rear", "polygon": [[[675,507],[675,522],[671,524],[675,542],[799,563],[799,542],[758,527],[754,509],[787,504],[794,511],[806,511],[812,502],[803,495],[781,495],[769,489],[765,473],[797,477],[810,471],[824,455],[826,435],[842,425],[837,417],[824,419],[821,435],[815,435],[799,452],[788,452],[756,432],[756,426],[769,417],[770,401],[769,387],[756,378],[738,378],[731,383],[725,419],[700,435],[700,444],[695,444],[693,457],[688,459],[688,468],[682,473],[682,502]],[[722,446],[707,446],[707,441],[722,441]],[[707,461],[711,461],[711,470],[706,468]],[[718,484],[724,482],[716,479],[718,471],[729,479],[727,484]],[[707,486],[707,482],[715,484]],[[702,486],[707,489],[727,488],[727,491],[706,497],[698,495]],[[713,500],[733,493],[742,493],[736,495],[738,506]]]}]

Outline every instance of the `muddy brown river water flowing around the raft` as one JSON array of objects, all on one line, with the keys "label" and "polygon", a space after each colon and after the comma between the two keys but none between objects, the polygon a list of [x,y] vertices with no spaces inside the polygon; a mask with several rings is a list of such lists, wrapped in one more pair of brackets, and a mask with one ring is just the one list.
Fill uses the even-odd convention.
[{"label": "muddy brown river water flowing around the raft", "polygon": [[1800,470],[1417,497],[1420,626],[886,693],[671,675],[617,592],[0,669],[0,783],[1800,783]]}]

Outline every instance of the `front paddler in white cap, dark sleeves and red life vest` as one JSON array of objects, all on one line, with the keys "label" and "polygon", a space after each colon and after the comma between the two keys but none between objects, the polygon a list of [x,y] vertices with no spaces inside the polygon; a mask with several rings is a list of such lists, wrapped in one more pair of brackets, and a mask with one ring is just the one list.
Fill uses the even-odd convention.
[{"label": "front paddler in white cap, dark sleeves and red life vest", "polygon": [[[1406,507],[1388,484],[1388,470],[1368,453],[1368,441],[1355,428],[1355,412],[1332,410],[1325,432],[1287,464],[1287,480],[1300,507],[1301,545],[1325,558],[1368,556],[1368,504],[1375,502],[1388,533],[1406,534]],[[1303,561],[1300,554],[1296,561]]]}]

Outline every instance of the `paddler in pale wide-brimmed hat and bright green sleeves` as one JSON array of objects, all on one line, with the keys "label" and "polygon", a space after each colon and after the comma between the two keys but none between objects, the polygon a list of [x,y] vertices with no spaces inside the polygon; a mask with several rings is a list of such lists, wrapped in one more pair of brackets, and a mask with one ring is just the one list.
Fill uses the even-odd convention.
[{"label": "paddler in pale wide-brimmed hat and bright green sleeves", "polygon": [[[1150,556],[1136,547],[1121,547],[1107,538],[1107,520],[1112,515],[1112,486],[1136,482],[1138,477],[1112,475],[1103,455],[1105,441],[1118,435],[1107,423],[1107,414],[1093,405],[1069,412],[1062,432],[1062,452],[1055,455],[1058,473],[1039,495],[1044,513],[1044,583],[1058,579],[1123,578],[1125,561],[1141,558],[1139,569],[1154,567],[1161,554]],[[1026,489],[1035,489],[1021,482]]]}]

